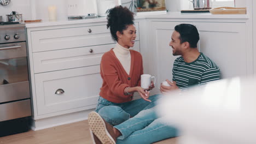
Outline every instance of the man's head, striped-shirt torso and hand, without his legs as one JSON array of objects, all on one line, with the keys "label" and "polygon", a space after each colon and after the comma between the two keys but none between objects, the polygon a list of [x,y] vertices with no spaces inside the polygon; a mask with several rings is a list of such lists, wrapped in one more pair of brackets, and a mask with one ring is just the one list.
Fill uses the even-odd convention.
[{"label": "man's head, striped-shirt torso and hand, without his legs", "polygon": [[220,71],[210,58],[200,53],[197,48],[199,33],[193,25],[177,25],[172,33],[170,46],[176,58],[172,69],[172,82],[166,80],[170,87],[161,85],[160,91],[166,93],[173,89],[187,89],[189,86],[219,80]]}]

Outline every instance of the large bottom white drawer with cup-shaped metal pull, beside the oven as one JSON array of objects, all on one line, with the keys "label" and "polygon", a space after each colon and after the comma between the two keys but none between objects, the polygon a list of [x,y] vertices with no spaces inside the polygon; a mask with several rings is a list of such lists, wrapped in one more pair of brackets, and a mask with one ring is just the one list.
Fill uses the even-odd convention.
[{"label": "large bottom white drawer with cup-shaped metal pull, beside the oven", "polygon": [[96,105],[102,85],[100,65],[35,74],[34,78],[38,115]]}]

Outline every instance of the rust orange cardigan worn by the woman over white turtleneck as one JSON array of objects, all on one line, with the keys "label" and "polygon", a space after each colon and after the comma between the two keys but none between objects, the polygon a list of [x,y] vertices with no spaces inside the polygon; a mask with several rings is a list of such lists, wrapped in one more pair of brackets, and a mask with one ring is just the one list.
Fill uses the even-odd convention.
[{"label": "rust orange cardigan worn by the woman over white turtleneck", "polygon": [[133,94],[125,95],[126,87],[141,86],[143,63],[141,53],[130,50],[131,68],[128,75],[112,50],[104,53],[101,58],[101,77],[103,80],[100,96],[113,103],[131,101]]}]

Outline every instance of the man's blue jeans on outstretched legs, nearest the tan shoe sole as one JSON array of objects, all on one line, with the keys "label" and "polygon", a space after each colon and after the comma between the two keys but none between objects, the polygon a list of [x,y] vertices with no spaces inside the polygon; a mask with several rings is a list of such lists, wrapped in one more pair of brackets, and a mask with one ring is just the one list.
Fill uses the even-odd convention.
[{"label": "man's blue jeans on outstretched legs, nearest the tan shoe sole", "polygon": [[156,115],[155,108],[143,110],[135,117],[115,125],[121,132],[117,143],[149,144],[178,136],[178,130],[162,122],[162,118]]}]

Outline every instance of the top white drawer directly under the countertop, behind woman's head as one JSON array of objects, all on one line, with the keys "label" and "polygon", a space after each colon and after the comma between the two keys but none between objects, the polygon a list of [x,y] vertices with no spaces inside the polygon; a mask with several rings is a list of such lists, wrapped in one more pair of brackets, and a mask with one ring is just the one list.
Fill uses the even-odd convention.
[{"label": "top white drawer directly under the countertop, behind woman's head", "polygon": [[[138,22],[135,25],[137,27],[136,40],[139,40]],[[106,25],[32,31],[31,41],[32,52],[114,43]]]}]

